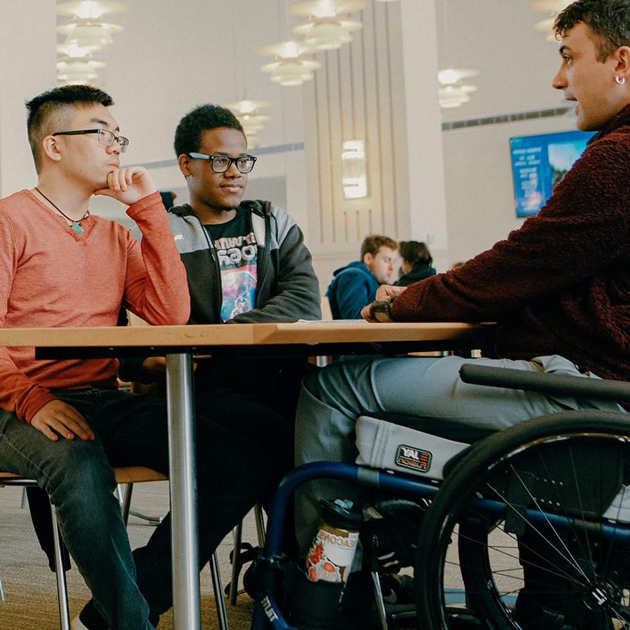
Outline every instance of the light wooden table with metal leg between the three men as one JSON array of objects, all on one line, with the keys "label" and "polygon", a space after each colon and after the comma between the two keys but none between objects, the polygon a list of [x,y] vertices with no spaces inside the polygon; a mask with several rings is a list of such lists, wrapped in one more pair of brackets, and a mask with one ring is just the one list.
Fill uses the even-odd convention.
[{"label": "light wooden table with metal leg between the three men", "polygon": [[473,349],[489,336],[467,323],[309,322],[104,328],[3,328],[0,346],[34,347],[36,358],[167,357],[173,615],[176,630],[200,630],[193,361],[212,356],[318,356],[349,352]]}]

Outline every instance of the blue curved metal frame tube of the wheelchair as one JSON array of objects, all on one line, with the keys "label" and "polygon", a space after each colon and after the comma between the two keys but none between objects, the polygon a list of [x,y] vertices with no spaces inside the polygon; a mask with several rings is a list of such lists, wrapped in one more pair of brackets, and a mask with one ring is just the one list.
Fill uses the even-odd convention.
[{"label": "blue curved metal frame tube of the wheelchair", "polygon": [[[269,508],[267,539],[260,561],[271,570],[273,570],[274,563],[277,563],[281,557],[281,544],[288,501],[298,486],[311,481],[311,479],[340,479],[363,486],[370,486],[374,489],[392,491],[400,496],[412,498],[430,499],[439,490],[439,486],[429,478],[410,478],[400,474],[392,475],[384,470],[363,468],[356,464],[338,461],[315,461],[298,466],[283,477],[274,493],[271,507]],[[502,501],[474,499],[470,502],[471,511],[481,512],[490,517],[496,517],[496,519],[503,517],[507,509],[510,508]],[[568,517],[531,509],[526,510],[524,518],[533,526],[550,524],[554,527],[566,529],[573,524],[573,519]],[[616,525],[603,523],[601,528],[606,536],[610,536],[611,540],[630,545],[630,527],[619,528]],[[269,626],[280,630],[297,630],[286,622],[273,594],[257,593],[251,630],[265,630]]]}]

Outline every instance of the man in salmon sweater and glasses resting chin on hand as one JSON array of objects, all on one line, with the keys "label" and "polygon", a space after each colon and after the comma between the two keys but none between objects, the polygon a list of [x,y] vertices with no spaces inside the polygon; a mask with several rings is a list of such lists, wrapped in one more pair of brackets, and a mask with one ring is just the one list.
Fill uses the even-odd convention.
[{"label": "man in salmon sweater and glasses resting chin on hand", "polygon": [[[116,325],[123,308],[153,324],[188,321],[186,272],[167,213],[144,168],[120,167],[128,140],[111,104],[87,85],[58,87],[27,103],[38,184],[0,200],[5,328]],[[90,214],[93,194],[129,206],[141,244],[122,225]],[[165,404],[118,391],[117,372],[113,359],[36,360],[32,349],[0,349],[0,467],[37,479],[57,508],[93,596],[76,629],[151,629],[172,601],[169,519],[137,549],[134,563],[111,468],[168,472]],[[207,454],[198,465],[202,554],[208,523],[223,526],[217,501],[230,490],[249,492],[216,480],[220,472],[229,477],[232,462],[247,465],[221,441],[217,428],[197,438]],[[230,523],[234,509],[223,501]]]}]

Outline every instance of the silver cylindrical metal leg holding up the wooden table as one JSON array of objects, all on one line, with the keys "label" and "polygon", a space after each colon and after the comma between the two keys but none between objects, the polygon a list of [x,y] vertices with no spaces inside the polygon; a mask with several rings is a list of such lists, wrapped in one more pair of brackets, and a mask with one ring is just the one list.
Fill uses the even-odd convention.
[{"label": "silver cylindrical metal leg holding up the wooden table", "polygon": [[192,357],[167,354],[175,630],[201,629],[194,401]]}]

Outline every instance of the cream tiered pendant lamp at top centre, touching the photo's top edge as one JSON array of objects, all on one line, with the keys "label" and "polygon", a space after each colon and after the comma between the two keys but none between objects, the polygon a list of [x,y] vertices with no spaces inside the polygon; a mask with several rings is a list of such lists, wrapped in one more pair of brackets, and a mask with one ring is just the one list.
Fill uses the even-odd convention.
[{"label": "cream tiered pendant lamp at top centre, touching the photo's top edge", "polygon": [[306,0],[288,6],[286,13],[308,18],[291,31],[304,36],[304,43],[316,50],[335,50],[351,42],[351,33],[362,27],[346,15],[363,8],[363,0]]}]

